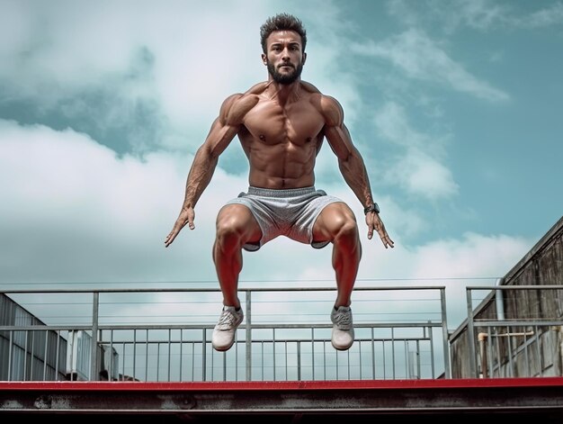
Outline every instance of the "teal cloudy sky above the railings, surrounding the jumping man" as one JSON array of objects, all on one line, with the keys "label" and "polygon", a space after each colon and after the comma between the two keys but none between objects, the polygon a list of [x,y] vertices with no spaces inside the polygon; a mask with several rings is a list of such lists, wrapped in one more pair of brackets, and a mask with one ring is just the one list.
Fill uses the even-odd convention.
[{"label": "teal cloudy sky above the railings, surrounding the jumping man", "polygon": [[[225,97],[267,78],[259,27],[308,31],[302,78],[344,106],[395,248],[326,146],[317,188],[362,231],[362,285],[495,284],[563,212],[563,2],[0,0],[0,288],[217,286],[219,207],[247,187],[237,140],[164,247]],[[241,285],[334,284],[330,248],[275,239]],[[306,283],[303,283],[306,282]]]}]

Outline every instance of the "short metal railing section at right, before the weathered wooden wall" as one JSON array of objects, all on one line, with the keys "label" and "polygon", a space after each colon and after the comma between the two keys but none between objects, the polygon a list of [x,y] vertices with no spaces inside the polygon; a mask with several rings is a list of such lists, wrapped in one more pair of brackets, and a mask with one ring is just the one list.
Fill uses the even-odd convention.
[{"label": "short metal railing section at right, before the weathered wooden wall", "polygon": [[[472,376],[563,374],[561,285],[470,286],[466,290],[469,372]],[[473,298],[478,291],[489,294],[475,309]]]}]

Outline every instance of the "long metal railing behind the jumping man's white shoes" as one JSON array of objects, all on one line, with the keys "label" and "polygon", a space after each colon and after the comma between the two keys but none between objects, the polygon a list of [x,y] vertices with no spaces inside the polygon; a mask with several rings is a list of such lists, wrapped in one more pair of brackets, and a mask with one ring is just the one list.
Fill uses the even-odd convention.
[{"label": "long metal railing behind the jumping man's white shoes", "polygon": [[2,293],[19,313],[0,322],[0,380],[450,377],[444,287],[354,289],[347,351],[330,343],[334,287],[240,289],[245,320],[227,352],[210,343],[218,289]]}]

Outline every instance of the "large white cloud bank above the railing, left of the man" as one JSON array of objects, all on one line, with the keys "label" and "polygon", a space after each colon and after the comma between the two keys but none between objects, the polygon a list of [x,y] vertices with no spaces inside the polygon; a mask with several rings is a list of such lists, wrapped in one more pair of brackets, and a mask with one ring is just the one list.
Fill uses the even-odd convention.
[{"label": "large white cloud bank above the railing, left of the man", "polygon": [[[200,266],[206,261],[192,262],[202,255],[201,246],[186,245],[185,235],[177,248],[164,248],[182,204],[189,158],[158,153],[144,161],[118,158],[84,134],[13,122],[2,122],[0,140],[1,166],[4,176],[10,176],[0,191],[5,282],[212,275],[209,267]],[[216,205],[210,196],[221,197],[220,185],[214,187],[201,202],[200,237],[213,229]],[[209,237],[202,239],[210,243]]]}]

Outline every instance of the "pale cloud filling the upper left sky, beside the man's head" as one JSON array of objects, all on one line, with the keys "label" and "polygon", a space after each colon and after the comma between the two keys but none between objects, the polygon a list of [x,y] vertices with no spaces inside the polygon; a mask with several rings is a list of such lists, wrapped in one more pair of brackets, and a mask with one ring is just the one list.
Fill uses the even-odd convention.
[{"label": "pale cloud filling the upper left sky, beside the man's head", "polygon": [[49,111],[64,99],[112,86],[121,99],[116,108],[145,98],[159,104],[175,131],[208,127],[227,95],[266,77],[257,28],[268,3],[248,4],[9,3],[0,17],[0,77],[10,81],[3,89]]}]

